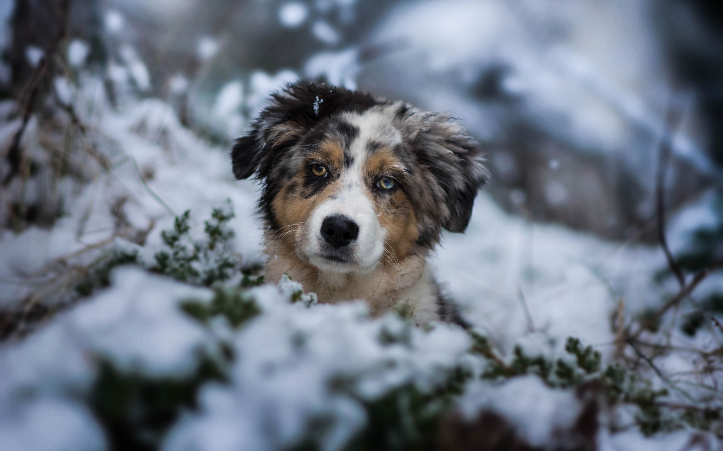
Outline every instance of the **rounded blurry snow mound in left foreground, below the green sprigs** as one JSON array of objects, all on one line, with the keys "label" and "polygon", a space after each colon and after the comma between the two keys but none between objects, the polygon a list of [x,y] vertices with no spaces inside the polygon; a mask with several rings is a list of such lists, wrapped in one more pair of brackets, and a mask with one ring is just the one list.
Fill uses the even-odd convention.
[{"label": "rounded blurry snow mound in left foreground, below the green sprigs", "polygon": [[114,273],[113,287],[74,311],[66,323],[77,336],[92,337],[94,351],[111,356],[122,369],[182,376],[194,369],[194,356],[207,335],[183,315],[178,302],[210,297],[208,289],[121,268]]}]

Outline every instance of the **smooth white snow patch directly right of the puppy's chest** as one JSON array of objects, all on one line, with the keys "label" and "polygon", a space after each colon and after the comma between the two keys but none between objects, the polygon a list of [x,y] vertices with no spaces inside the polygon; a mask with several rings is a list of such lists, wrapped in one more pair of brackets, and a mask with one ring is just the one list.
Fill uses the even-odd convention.
[{"label": "smooth white snow patch directly right of the puppy's chest", "polygon": [[661,257],[655,248],[617,247],[560,226],[527,222],[483,193],[466,233],[446,233],[434,262],[466,317],[511,349],[528,330],[523,299],[535,329],[558,343],[568,336],[612,341],[609,323],[600,318],[608,318],[617,297],[654,302],[649,274]]}]

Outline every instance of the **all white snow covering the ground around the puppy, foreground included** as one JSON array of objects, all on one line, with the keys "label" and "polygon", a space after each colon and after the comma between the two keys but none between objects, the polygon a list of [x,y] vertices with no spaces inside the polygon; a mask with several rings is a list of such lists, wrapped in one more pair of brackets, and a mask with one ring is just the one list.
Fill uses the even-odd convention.
[{"label": "all white snow covering the ground around the puppy, foreground included", "polygon": [[[230,223],[234,252],[244,262],[260,261],[257,186],[233,180],[228,149],[194,136],[161,100],[133,100],[113,110],[105,97],[93,94],[101,89],[94,83],[88,79],[74,102],[89,139],[106,143],[100,151],[110,169],[69,192],[67,214],[54,227],[1,235],[0,307],[39,290],[42,302],[61,297],[42,292],[44,271],[59,259],[84,264],[115,247],[137,250],[152,262],[163,245],[161,230],[173,227],[175,215],[190,209],[192,235],[200,236],[211,209],[228,199],[236,211]],[[11,136],[17,123],[3,127],[0,136]],[[25,133],[31,152],[43,152],[41,133],[37,123]],[[114,227],[117,214],[110,206],[119,198],[127,198],[127,227],[150,228],[144,245]],[[560,353],[565,339],[576,336],[607,359],[619,299],[629,312],[659,302],[651,273],[664,260],[656,248],[604,242],[511,216],[481,193],[466,234],[445,235],[433,261],[466,318],[502,354],[515,343],[531,353]],[[372,320],[362,302],[288,302],[297,289],[293,281],[252,289],[249,299],[261,313],[234,329],[223,317],[203,324],[179,308],[188,299],[208,304],[212,290],[142,268],[116,269],[107,289],[26,338],[0,346],[0,450],[106,447],[107,436],[87,403],[101,360],[145,377],[183,378],[200,359],[218,358],[223,346],[234,349],[229,383],[202,385],[200,408],[171,426],[164,450],[282,449],[308,438],[309,424],[320,418],[327,422],[317,442],[334,450],[364,427],[364,402],[409,384],[429,391],[458,368],[472,377],[484,371],[482,359],[469,354],[471,338],[461,328],[414,328],[393,314]],[[333,388],[339,380],[346,381],[345,390]],[[581,401],[528,375],[473,382],[460,406],[469,417],[496,411],[532,445],[549,445],[576,421]],[[612,434],[605,428],[596,438],[602,450],[679,450],[688,440],[688,432],[645,439],[637,429]]]}]

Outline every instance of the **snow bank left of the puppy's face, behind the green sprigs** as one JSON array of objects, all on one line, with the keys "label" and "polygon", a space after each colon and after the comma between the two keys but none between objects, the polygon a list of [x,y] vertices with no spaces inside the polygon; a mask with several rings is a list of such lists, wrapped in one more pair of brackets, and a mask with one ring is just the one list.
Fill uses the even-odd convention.
[{"label": "snow bank left of the puppy's face, behind the green sprigs", "polygon": [[[78,95],[77,107],[93,99],[94,84],[87,84]],[[94,123],[114,144],[104,150],[113,162],[113,170],[97,183],[85,185],[67,199],[68,213],[51,229],[30,227],[23,234],[0,236],[0,306],[11,305],[33,292],[30,277],[37,283],[46,279],[43,267],[64,255],[76,253],[88,245],[111,237],[115,219],[107,206],[120,197],[130,201],[125,208],[129,221],[145,229],[151,221],[155,228],[147,237],[147,261],[161,248],[161,230],[173,224],[171,211],[181,214],[192,209],[192,219],[208,219],[210,210],[231,199],[237,217],[231,221],[236,230],[236,251],[247,260],[260,259],[260,225],[250,214],[256,203],[256,187],[250,182],[235,182],[228,165],[226,149],[208,146],[184,129],[174,111],[158,100],[137,102],[122,115],[116,115],[98,102]],[[85,118],[84,108],[77,108]],[[103,111],[98,115],[98,111]],[[31,121],[25,139],[34,142],[35,122]],[[0,137],[12,136],[19,123],[12,121],[0,128]],[[37,144],[35,144],[37,145]],[[35,148],[33,148],[35,149]],[[34,152],[43,152],[35,149]],[[140,168],[150,168],[153,180],[140,179]],[[184,183],[179,184],[179,180]],[[168,206],[171,211],[166,209]],[[90,216],[85,218],[86,212]],[[246,214],[240,214],[246,212]],[[85,218],[85,219],[84,219]],[[85,224],[85,232],[81,225]],[[80,233],[79,233],[80,230]],[[93,252],[81,255],[89,261]]]}]

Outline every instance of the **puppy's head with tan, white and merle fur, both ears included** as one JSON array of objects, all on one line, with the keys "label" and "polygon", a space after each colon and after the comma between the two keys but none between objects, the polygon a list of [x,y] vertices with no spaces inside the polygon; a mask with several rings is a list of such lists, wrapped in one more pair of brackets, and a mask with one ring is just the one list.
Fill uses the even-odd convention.
[{"label": "puppy's head with tan, white and merle fur, both ears included", "polygon": [[273,95],[231,152],[263,183],[273,237],[324,271],[371,271],[463,232],[487,180],[479,145],[446,115],[298,82]]}]

